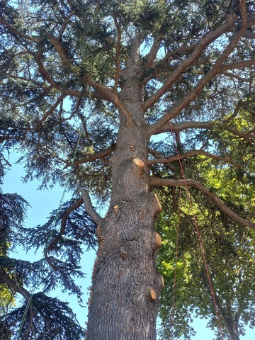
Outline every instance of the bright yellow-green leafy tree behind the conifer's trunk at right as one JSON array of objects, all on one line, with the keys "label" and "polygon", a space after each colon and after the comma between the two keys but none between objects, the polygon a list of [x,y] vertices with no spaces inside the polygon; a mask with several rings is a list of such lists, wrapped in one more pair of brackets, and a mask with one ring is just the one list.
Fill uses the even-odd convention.
[{"label": "bright yellow-green leafy tree behind the conifer's trunk at right", "polygon": [[[243,132],[251,127],[254,108],[253,105],[250,112],[240,110],[232,120],[232,127],[242,128]],[[239,215],[254,218],[254,162],[249,162],[254,157],[251,140],[244,144],[242,138],[233,138],[228,132],[220,132],[211,138],[211,151],[215,140],[217,148],[222,152],[227,150],[232,164],[209,162],[201,155],[196,162],[188,159],[183,168],[187,174],[199,174],[200,179],[207,182],[209,191],[220,194]],[[169,166],[176,166],[174,164]],[[255,232],[227,218],[197,190],[166,190],[158,191],[164,202],[164,214],[157,222],[164,237],[158,263],[166,281],[159,307],[162,318],[160,333],[163,339],[169,339],[170,335],[173,336],[171,339],[183,335],[185,339],[192,339],[192,319],[204,317],[208,319],[208,327],[215,330],[217,339],[222,339],[223,334],[224,339],[239,340],[239,336],[245,335],[245,327],[255,326]],[[173,199],[165,200],[168,195]],[[189,198],[192,198],[191,202]],[[210,273],[222,334],[202,251]]]}]

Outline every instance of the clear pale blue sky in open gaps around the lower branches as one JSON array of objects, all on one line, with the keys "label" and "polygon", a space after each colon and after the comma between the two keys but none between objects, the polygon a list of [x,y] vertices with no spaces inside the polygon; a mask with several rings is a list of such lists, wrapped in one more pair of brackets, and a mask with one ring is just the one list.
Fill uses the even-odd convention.
[{"label": "clear pale blue sky in open gaps around the lower branches", "polygon": [[[28,208],[26,227],[35,227],[36,225],[40,225],[45,223],[47,217],[50,215],[50,212],[53,209],[56,209],[60,204],[60,200],[62,198],[62,194],[64,188],[55,187],[50,190],[39,191],[38,186],[39,182],[33,181],[24,184],[21,181],[21,177],[25,175],[22,166],[18,164],[14,164],[14,162],[18,159],[17,154],[11,155],[9,162],[13,164],[11,166],[11,170],[7,172],[4,180],[4,186],[2,187],[4,193],[18,193],[23,196],[28,203],[30,203],[30,207]],[[67,196],[64,197],[64,201],[68,199]],[[30,251],[29,254],[26,254],[25,251],[21,251],[20,249],[16,252],[16,254],[11,254],[11,256],[16,257],[18,259],[24,259],[28,261],[34,261],[35,259],[40,259],[42,254],[34,254],[33,251]],[[82,286],[82,290],[84,293],[84,307],[80,307],[77,298],[74,295],[63,294],[61,291],[56,290],[51,296],[60,297],[61,300],[69,302],[70,307],[74,310],[74,313],[77,314],[77,319],[82,327],[85,327],[86,317],[87,317],[87,305],[86,302],[89,299],[89,286],[91,285],[91,272],[94,266],[95,253],[94,251],[89,251],[84,254],[84,259],[82,260],[82,268],[84,273],[86,273],[85,279],[80,279],[77,284]],[[194,319],[193,327],[196,329],[197,334],[193,336],[193,340],[212,340],[214,339],[213,331],[206,328],[206,321],[200,319]],[[254,340],[255,339],[255,330],[247,328],[246,336],[241,336],[242,340]],[[185,340],[183,338],[183,340]]]}]

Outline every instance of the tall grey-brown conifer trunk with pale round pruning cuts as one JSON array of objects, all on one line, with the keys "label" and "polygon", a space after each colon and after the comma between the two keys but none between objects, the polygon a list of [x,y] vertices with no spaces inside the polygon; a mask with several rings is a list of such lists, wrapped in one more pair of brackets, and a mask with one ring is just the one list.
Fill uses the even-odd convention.
[{"label": "tall grey-brown conifer trunk with pale round pruning cuts", "polygon": [[120,112],[117,149],[111,158],[112,196],[98,226],[98,256],[89,302],[89,340],[154,340],[162,277],[155,267],[160,237],[154,220],[161,207],[149,193],[147,125],[135,78],[135,41],[120,94],[132,115]]}]

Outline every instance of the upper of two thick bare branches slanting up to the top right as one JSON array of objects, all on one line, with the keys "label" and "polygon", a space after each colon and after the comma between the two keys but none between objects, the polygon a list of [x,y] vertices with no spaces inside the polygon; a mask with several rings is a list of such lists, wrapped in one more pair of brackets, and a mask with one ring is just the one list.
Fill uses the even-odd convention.
[{"label": "upper of two thick bare branches slanting up to the top right", "polygon": [[[208,45],[210,45],[211,42],[219,38],[220,35],[227,32],[229,28],[231,28],[234,25],[235,20],[236,20],[235,16],[230,17],[227,23],[220,26],[220,28],[217,28],[217,30],[214,30],[211,33],[205,35],[204,38],[200,40],[199,44],[193,50],[191,55],[187,57],[186,60],[184,60],[179,65],[179,67],[176,67],[176,69],[171,74],[171,76],[168,79],[166,79],[163,86],[157,92],[155,92],[153,96],[151,96],[149,99],[147,99],[147,101],[145,101],[145,103],[142,106],[143,110],[147,111],[148,108],[153,106],[154,103],[156,103],[159,100],[159,98],[161,98],[166,93],[166,91],[168,91],[171,88],[171,86],[175,83],[175,81],[179,79],[179,77],[181,77],[181,74],[183,74],[183,72],[187,69],[187,67],[191,66],[194,62],[196,62],[196,60],[198,60],[198,57],[200,57],[200,55],[203,53],[205,48],[208,47]],[[242,34],[243,34],[243,31],[242,31]],[[239,41],[239,35],[238,35],[238,41]],[[236,44],[237,43],[235,43],[234,46],[236,46]],[[232,50],[230,52],[232,52]],[[222,62],[224,62],[225,59]]]}]

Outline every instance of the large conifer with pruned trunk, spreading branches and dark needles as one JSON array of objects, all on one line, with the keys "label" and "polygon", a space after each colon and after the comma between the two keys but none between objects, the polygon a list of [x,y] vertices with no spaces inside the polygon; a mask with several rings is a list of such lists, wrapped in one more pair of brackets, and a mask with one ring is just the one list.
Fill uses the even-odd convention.
[{"label": "large conifer with pruned trunk, spreading branches and dark needles", "polygon": [[[161,241],[154,222],[161,206],[150,188],[192,186],[192,196],[203,193],[232,223],[255,227],[251,212],[231,204],[234,195],[215,191],[207,176],[209,163],[215,171],[239,171],[246,188],[254,176],[254,5],[4,0],[0,23],[1,119],[8,126],[2,145],[16,142],[23,152],[26,181],[40,179],[42,188],[68,181],[73,193],[42,228],[21,228],[32,235],[26,246],[46,244],[45,258],[33,264],[43,266],[46,277],[22,264],[23,285],[42,284],[22,336],[30,339],[45,327],[52,339],[81,336],[82,330],[67,334],[70,324],[58,321],[63,314],[55,317],[57,334],[50,333],[45,315],[54,303],[45,293],[57,281],[81,294],[70,277],[82,275],[79,242],[93,244],[93,224],[81,217],[84,202],[98,225],[87,338],[155,339],[163,281],[155,267]],[[244,108],[247,122],[239,120]],[[238,140],[239,148],[234,152],[226,140]],[[108,202],[104,218],[89,193]],[[245,201],[246,195],[239,197]],[[60,222],[56,232],[54,220]],[[20,268],[6,256],[3,261],[6,273]],[[28,290],[22,292],[30,300]],[[56,305],[69,314],[61,302]],[[23,309],[8,314],[9,332]]]}]

